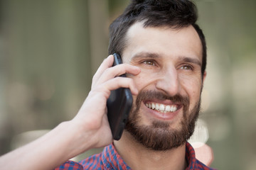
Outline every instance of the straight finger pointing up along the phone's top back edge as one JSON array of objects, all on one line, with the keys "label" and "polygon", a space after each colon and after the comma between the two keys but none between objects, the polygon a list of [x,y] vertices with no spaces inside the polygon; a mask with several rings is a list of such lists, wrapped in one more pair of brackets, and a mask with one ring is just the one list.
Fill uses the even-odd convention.
[{"label": "straight finger pointing up along the phone's top back edge", "polygon": [[99,77],[102,75],[102,73],[105,72],[105,69],[112,67],[113,62],[114,62],[113,55],[109,55],[107,58],[105,58],[105,60],[103,60],[102,64],[100,64],[100,67],[95,72],[95,74],[92,78],[92,82],[97,81],[97,79],[99,79]]}]

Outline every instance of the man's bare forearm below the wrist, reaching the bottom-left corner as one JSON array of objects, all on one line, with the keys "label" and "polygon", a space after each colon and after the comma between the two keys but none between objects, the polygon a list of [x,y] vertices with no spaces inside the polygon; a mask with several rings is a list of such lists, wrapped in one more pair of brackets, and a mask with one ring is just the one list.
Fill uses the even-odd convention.
[{"label": "man's bare forearm below the wrist, reaching the bottom-left corner", "polygon": [[61,123],[38,140],[0,157],[1,169],[54,169],[90,148],[90,138],[82,137],[86,135],[80,135],[73,123]]}]

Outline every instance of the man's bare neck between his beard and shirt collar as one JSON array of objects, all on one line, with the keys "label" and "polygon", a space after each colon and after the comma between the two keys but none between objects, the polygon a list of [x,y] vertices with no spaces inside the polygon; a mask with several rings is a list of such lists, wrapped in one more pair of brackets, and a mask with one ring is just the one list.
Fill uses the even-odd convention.
[{"label": "man's bare neck between his beard and shirt collar", "polygon": [[139,144],[129,132],[124,131],[119,141],[114,141],[119,155],[132,169],[186,169],[186,145],[166,151],[154,151]]}]

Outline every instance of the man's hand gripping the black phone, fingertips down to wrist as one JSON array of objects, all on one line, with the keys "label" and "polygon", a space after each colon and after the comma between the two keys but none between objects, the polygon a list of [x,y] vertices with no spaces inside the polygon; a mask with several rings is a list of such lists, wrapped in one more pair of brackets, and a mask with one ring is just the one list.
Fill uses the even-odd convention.
[{"label": "man's hand gripping the black phone, fingertips down to wrist", "polygon": [[139,67],[130,64],[112,67],[113,62],[114,57],[110,55],[97,69],[92,79],[92,89],[78,115],[72,120],[75,125],[80,126],[81,134],[86,133],[84,137],[87,140],[90,139],[91,147],[103,147],[112,142],[110,125],[107,120],[107,98],[110,96],[110,91],[124,87],[129,88],[134,95],[138,93],[131,78],[118,76],[125,73],[137,75],[140,72]]}]

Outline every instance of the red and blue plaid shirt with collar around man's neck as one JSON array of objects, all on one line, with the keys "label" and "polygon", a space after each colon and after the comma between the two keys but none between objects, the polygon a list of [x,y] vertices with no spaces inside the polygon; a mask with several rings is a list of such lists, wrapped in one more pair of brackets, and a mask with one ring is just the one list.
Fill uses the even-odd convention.
[{"label": "red and blue plaid shirt with collar around man's neck", "polygon": [[[206,166],[202,162],[196,159],[196,154],[193,147],[186,142],[186,160],[188,162],[188,167],[186,170],[213,170],[212,168]],[[114,145],[109,145],[105,147],[100,154],[95,154],[81,162],[65,162],[60,167],[55,170],[83,170],[83,169],[131,169],[124,160],[117,153]]]}]

